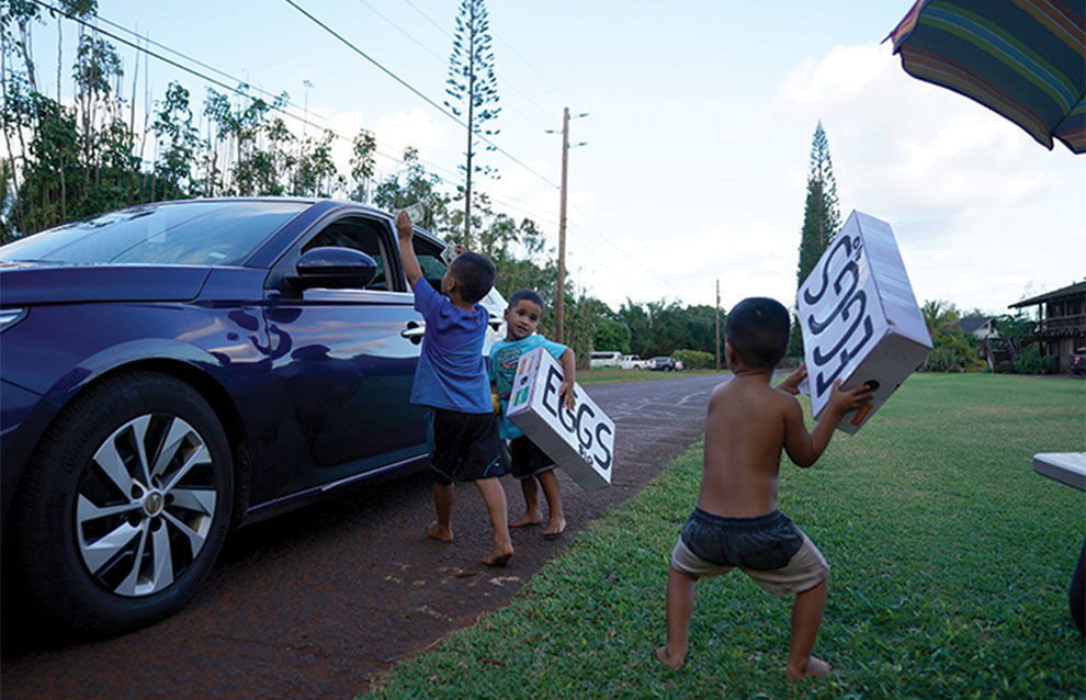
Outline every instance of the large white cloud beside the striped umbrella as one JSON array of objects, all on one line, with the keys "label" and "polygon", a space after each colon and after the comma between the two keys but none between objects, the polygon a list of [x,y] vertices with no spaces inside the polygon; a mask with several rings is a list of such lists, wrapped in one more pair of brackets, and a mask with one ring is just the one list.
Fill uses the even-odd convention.
[{"label": "large white cloud beside the striped umbrella", "polygon": [[804,61],[769,113],[807,129],[822,120],[842,215],[858,208],[894,226],[919,301],[1002,311],[1029,280],[1082,279],[1078,162],[909,77],[887,45]]}]

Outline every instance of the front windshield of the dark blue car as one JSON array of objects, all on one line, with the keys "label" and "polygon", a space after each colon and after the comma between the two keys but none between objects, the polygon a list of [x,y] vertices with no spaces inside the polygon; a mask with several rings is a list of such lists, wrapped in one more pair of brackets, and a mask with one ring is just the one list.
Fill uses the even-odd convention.
[{"label": "front windshield of the dark blue car", "polygon": [[0,247],[3,261],[240,264],[305,202],[147,204],[61,224]]}]

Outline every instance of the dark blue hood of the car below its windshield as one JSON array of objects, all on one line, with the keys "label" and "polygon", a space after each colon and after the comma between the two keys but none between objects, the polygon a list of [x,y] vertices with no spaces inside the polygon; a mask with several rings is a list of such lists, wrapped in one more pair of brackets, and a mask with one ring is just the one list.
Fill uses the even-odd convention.
[{"label": "dark blue hood of the car below its windshield", "polygon": [[194,298],[210,272],[200,266],[2,263],[0,303],[180,302]]}]

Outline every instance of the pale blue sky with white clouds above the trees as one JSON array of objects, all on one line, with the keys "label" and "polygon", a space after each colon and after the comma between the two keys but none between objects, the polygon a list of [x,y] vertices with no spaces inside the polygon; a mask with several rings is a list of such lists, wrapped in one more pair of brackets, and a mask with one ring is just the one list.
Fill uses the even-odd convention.
[{"label": "pale blue sky with white clouds above the trees", "polygon": [[[452,190],[464,127],[418,93],[445,100],[460,3],[292,2],[99,0],[99,15],[104,30],[129,37],[109,21],[289,92],[291,111],[315,124],[347,136],[372,129],[378,180],[414,146]],[[793,304],[821,121],[841,219],[857,210],[892,226],[919,304],[1000,314],[1082,281],[1086,157],[1061,143],[1049,151],[994,112],[907,76],[881,42],[910,5],[489,0],[502,108],[490,124],[504,153],[482,157],[500,179],[474,187],[496,210],[534,219],[556,249],[562,140],[546,132],[561,129],[564,108],[587,113],[570,121],[570,143],[586,145],[570,148],[568,162],[566,266],[578,289],[615,309],[626,301],[713,305],[717,284],[725,311],[746,296]],[[61,42],[75,34],[66,23]],[[55,75],[56,23],[37,27],[34,42],[39,70]],[[180,80],[203,101],[201,78],[156,58],[134,76],[136,52],[114,43],[126,80],[159,99]],[[72,56],[67,48],[65,63]],[[347,143],[335,153],[346,172]]]}]

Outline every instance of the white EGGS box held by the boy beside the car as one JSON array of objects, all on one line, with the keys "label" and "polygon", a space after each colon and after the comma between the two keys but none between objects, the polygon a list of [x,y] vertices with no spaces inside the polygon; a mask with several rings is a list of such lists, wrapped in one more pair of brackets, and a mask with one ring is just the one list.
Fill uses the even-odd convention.
[{"label": "white EGGS box held by the boy beside the car", "polygon": [[563,376],[562,365],[545,348],[522,354],[509,396],[509,419],[581,488],[603,488],[611,483],[614,422],[576,383],[576,407],[570,411],[563,406]]}]

